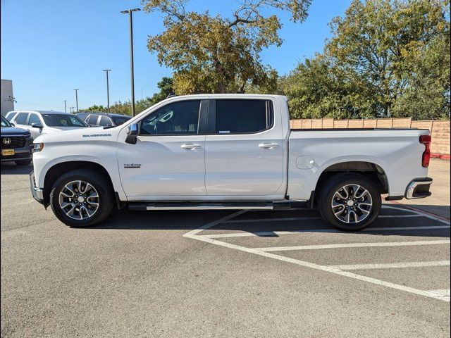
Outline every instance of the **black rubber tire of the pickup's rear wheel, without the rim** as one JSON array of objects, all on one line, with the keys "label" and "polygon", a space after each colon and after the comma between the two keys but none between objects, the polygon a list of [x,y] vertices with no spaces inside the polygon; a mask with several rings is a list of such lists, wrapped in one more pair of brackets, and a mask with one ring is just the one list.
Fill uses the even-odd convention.
[{"label": "black rubber tire of the pickup's rear wheel, without the rim", "polygon": [[[358,184],[362,188],[366,189],[366,191],[371,196],[372,206],[371,209],[368,210],[369,213],[367,215],[362,213],[362,216],[359,216],[359,218],[362,218],[361,221],[356,222],[357,216],[353,215],[352,218],[354,218],[354,223],[347,223],[340,219],[340,216],[347,218],[347,211],[344,211],[338,216],[335,216],[333,212],[332,202],[335,193],[337,193],[340,188],[345,186],[352,186],[352,184]],[[342,192],[342,190],[340,190],[340,192]],[[366,196],[368,196],[368,194],[366,194]],[[338,201],[338,199],[335,199],[335,201]],[[343,201],[347,201],[347,199],[340,199],[341,203]],[[342,209],[335,207],[335,212],[345,210],[345,208],[348,208],[347,210],[350,210],[349,208],[352,208],[352,211],[357,211],[358,204],[357,206],[354,206],[354,201],[350,203],[352,204],[352,206],[346,204],[342,207]],[[318,199],[319,212],[321,213],[323,219],[334,227],[338,227],[338,229],[345,231],[358,231],[371,225],[371,223],[376,220],[381,211],[381,204],[381,190],[379,189],[378,185],[369,180],[364,175],[350,173],[342,173],[330,177],[321,187],[321,192],[319,193]],[[364,208],[369,207],[365,206]],[[361,212],[361,210],[362,206],[360,207],[360,211],[358,212]],[[350,218],[347,218],[347,220],[350,220]]]}]

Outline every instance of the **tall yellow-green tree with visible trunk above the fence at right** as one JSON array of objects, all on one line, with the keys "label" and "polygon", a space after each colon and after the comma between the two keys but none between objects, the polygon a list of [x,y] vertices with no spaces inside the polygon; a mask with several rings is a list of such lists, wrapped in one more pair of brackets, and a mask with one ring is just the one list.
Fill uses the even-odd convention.
[{"label": "tall yellow-green tree with visible trunk above the fence at right", "polygon": [[[418,86],[414,82],[418,77],[412,74],[424,68],[420,65],[421,58],[433,48],[434,42],[447,37],[448,49],[446,52],[442,49],[445,54],[440,57],[449,60],[450,22],[445,14],[446,2],[354,0],[344,18],[335,18],[330,23],[333,37],[326,45],[326,54],[335,59],[335,65],[350,80],[362,82],[364,89],[376,95],[378,115],[404,115],[396,102]],[[438,68],[442,70],[444,65]],[[448,62],[445,68],[449,66]],[[433,69],[435,65],[426,68],[440,73]],[[443,94],[446,84],[437,84]]]}]

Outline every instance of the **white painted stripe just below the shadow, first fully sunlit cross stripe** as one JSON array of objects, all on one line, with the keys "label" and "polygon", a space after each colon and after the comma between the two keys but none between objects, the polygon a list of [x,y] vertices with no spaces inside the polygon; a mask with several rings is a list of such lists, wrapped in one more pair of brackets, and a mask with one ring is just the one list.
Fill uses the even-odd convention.
[{"label": "white painted stripe just below the shadow, first fully sunlit cross stripe", "polygon": [[260,251],[293,251],[293,250],[316,250],[316,249],[341,249],[341,248],[367,248],[373,246],[413,246],[450,244],[450,239],[438,239],[436,241],[414,241],[414,242],[376,242],[376,243],[343,243],[343,244],[319,244],[300,246],[270,246],[268,248],[255,248]]}]

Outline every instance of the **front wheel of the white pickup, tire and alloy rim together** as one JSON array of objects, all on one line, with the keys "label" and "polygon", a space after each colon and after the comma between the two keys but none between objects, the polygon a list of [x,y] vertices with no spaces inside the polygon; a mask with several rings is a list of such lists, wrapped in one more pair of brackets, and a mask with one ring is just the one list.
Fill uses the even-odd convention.
[{"label": "front wheel of the white pickup, tire and alloy rim together", "polygon": [[92,170],[73,170],[56,180],[50,192],[54,214],[70,227],[89,227],[113,210],[113,189],[105,177]]}]

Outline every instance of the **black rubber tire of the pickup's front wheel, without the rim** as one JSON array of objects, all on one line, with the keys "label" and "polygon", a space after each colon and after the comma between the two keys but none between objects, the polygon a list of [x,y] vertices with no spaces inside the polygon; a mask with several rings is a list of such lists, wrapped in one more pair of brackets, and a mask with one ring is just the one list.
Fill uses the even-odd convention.
[{"label": "black rubber tire of the pickup's front wheel, without the rim", "polygon": [[[92,216],[75,220],[66,215],[66,213],[62,210],[59,204],[59,196],[60,192],[64,189],[66,184],[77,180],[87,182],[97,190],[97,194],[99,196],[99,206],[97,208],[97,211],[95,211]],[[75,204],[77,203],[75,202]],[[93,170],[73,170],[69,173],[61,175],[61,177],[59,177],[58,180],[56,180],[56,182],[54,183],[54,186],[51,188],[50,192],[50,206],[51,210],[56,215],[56,218],[58,218],[58,220],[61,220],[61,222],[63,222],[64,224],[70,227],[90,227],[92,225],[101,223],[101,221],[107,218],[113,210],[113,188],[111,187],[109,180]]]}]

